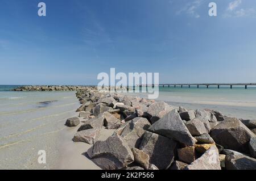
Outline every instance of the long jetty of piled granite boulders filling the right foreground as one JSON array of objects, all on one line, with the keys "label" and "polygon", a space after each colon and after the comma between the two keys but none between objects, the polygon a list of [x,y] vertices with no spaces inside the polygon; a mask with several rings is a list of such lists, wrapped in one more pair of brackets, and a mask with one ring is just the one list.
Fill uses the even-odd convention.
[{"label": "long jetty of piled granite boulders filling the right foreground", "polygon": [[[92,144],[87,155],[102,169],[256,169],[256,120],[94,87],[77,90],[76,95],[79,117],[66,125],[79,127],[73,141]],[[115,131],[98,141],[101,129]]]}]

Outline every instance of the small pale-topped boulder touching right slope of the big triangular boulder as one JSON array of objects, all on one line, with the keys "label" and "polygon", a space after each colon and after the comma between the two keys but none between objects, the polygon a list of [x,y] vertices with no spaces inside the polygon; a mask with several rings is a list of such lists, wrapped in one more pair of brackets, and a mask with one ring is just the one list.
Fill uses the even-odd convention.
[{"label": "small pale-topped boulder touching right slope of the big triangular boulder", "polygon": [[185,125],[193,136],[200,136],[201,134],[208,133],[204,123],[199,119],[188,121]]}]

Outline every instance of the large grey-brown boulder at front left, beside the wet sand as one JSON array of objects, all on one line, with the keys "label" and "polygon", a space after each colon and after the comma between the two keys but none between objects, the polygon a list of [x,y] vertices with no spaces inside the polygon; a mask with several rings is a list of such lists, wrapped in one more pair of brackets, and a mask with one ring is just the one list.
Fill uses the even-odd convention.
[{"label": "large grey-brown boulder at front left, beside the wet sand", "polygon": [[106,170],[122,169],[134,161],[131,149],[120,136],[97,141],[87,154],[96,165]]}]

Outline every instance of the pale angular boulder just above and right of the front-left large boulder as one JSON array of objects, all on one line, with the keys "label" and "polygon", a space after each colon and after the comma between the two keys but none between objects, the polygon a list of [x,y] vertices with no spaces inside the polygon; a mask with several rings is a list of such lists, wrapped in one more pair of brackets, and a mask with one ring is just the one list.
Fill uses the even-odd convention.
[{"label": "pale angular boulder just above and right of the front-left large boulder", "polygon": [[130,148],[139,148],[141,145],[142,135],[150,127],[150,123],[146,118],[136,117],[135,119],[126,122],[113,135],[123,137]]}]

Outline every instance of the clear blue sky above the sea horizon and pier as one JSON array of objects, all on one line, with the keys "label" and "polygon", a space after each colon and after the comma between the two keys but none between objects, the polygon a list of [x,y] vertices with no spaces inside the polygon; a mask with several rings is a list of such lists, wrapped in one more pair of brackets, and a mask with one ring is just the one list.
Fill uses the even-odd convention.
[{"label": "clear blue sky above the sea horizon and pier", "polygon": [[255,0],[3,0],[0,26],[0,85],[96,85],[110,68],[256,82]]}]

